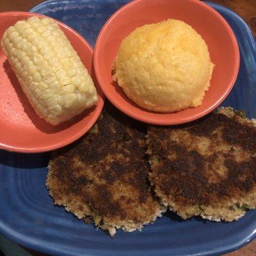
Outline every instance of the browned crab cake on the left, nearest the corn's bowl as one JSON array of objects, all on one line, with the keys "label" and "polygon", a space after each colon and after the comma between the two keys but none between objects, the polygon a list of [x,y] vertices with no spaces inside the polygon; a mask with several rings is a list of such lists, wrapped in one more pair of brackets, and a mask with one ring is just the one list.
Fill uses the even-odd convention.
[{"label": "browned crab cake on the left, nearest the corn's bowl", "polygon": [[132,232],[152,223],[164,207],[150,191],[145,146],[135,122],[105,111],[76,145],[50,161],[46,185],[55,204],[78,218],[90,216],[110,236],[116,228]]}]

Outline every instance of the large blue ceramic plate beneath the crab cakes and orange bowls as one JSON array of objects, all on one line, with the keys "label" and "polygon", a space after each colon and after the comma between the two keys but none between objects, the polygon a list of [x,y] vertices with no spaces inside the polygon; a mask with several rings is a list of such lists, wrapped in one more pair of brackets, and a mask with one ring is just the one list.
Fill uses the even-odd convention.
[{"label": "large blue ceramic plate beneath the crab cakes and orange bowls", "polygon": [[[31,9],[61,20],[76,29],[92,45],[104,22],[127,1],[47,1]],[[256,50],[244,21],[227,8],[210,4],[227,19],[241,51],[239,76],[225,106],[244,109],[256,116]],[[256,211],[239,221],[215,223],[175,214],[131,234],[118,231],[111,239],[102,230],[86,225],[62,207],[54,207],[45,188],[48,154],[0,152],[0,233],[16,243],[52,255],[219,255],[255,238]]]}]

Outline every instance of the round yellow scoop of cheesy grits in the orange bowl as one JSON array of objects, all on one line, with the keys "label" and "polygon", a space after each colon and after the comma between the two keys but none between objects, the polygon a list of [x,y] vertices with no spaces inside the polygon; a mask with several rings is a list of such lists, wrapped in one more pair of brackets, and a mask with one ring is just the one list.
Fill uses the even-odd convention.
[{"label": "round yellow scoop of cheesy grits in the orange bowl", "polygon": [[195,29],[168,19],[137,28],[122,41],[113,80],[141,108],[175,112],[202,104],[213,68]]}]

